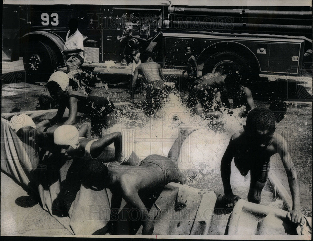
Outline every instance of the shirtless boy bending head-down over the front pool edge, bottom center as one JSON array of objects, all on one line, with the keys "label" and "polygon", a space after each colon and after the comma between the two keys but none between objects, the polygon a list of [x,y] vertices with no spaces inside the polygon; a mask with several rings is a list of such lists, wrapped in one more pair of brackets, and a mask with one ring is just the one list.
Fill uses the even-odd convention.
[{"label": "shirtless boy bending head-down over the front pool edge, bottom center", "polygon": [[[184,183],[184,178],[177,167],[183,141],[191,133],[181,131],[174,142],[168,157],[150,155],[141,161],[139,166],[115,166],[106,168],[100,162],[89,162],[84,169],[82,182],[85,186],[95,190],[109,188],[112,192],[110,221],[93,234],[121,234],[122,231],[115,230],[118,222],[116,218],[119,213],[122,198],[127,202],[124,210],[136,213],[136,224],[130,222],[127,228],[128,234],[135,234],[140,225],[143,225],[142,234],[153,233],[153,220],[149,217],[149,211],[160,196],[164,186],[169,182]],[[170,159],[171,158],[171,159]],[[137,216],[138,214],[138,216]],[[131,215],[134,216],[134,215]],[[124,217],[127,217],[125,215]],[[116,220],[117,219],[117,220]]]}]

